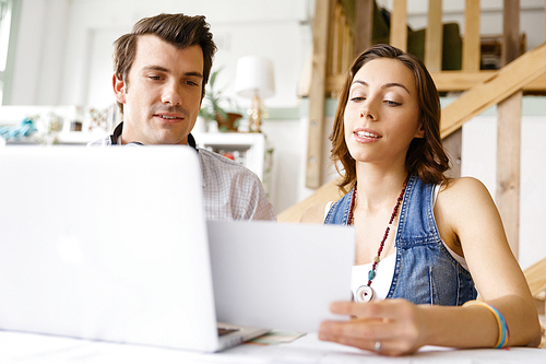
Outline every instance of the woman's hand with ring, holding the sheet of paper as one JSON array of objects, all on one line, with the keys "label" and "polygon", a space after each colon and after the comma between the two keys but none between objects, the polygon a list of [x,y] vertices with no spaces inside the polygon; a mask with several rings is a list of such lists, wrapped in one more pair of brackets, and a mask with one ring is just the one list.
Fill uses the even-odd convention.
[{"label": "woman's hand with ring, holding the sheet of paper", "polygon": [[321,340],[392,356],[415,353],[426,343],[425,314],[408,301],[336,302],[330,310],[354,318],[322,322],[319,331]]}]

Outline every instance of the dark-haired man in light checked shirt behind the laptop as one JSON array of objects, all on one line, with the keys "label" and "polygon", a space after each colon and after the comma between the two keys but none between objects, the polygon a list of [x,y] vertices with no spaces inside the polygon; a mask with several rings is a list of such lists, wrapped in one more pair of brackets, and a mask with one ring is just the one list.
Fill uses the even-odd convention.
[{"label": "dark-haired man in light checked shirt behind the laptop", "polygon": [[275,220],[258,177],[195,148],[195,125],[216,46],[204,16],[159,14],[114,44],[114,94],[123,121],[90,145],[189,144],[199,154],[207,219]]}]

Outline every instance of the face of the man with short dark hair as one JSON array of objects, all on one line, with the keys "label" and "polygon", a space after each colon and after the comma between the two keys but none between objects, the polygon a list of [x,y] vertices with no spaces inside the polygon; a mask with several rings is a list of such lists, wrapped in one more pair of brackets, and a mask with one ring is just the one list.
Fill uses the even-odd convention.
[{"label": "face of the man with short dark hair", "polygon": [[114,75],[116,99],[123,104],[121,142],[187,144],[202,83],[200,46],[177,48],[155,35],[139,36],[126,82]]}]

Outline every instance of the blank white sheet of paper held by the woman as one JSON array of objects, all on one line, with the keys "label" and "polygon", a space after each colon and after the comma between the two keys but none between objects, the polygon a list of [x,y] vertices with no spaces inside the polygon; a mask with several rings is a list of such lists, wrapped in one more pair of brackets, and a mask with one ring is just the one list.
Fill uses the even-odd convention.
[{"label": "blank white sheet of paper held by the woman", "polygon": [[316,332],[351,300],[353,226],[209,221],[217,319]]}]

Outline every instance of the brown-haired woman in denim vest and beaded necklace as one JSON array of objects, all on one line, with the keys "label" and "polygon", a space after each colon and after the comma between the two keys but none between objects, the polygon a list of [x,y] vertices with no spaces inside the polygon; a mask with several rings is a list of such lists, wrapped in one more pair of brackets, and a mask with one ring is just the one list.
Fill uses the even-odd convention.
[{"label": "brown-haired woman in denim vest and beaded necklace", "polygon": [[357,233],[356,302],[331,306],[353,318],[323,322],[320,339],[385,355],[539,343],[534,302],[491,197],[474,178],[444,175],[440,114],[416,57],[377,45],[353,63],[330,137],[348,193],[301,218]]}]

